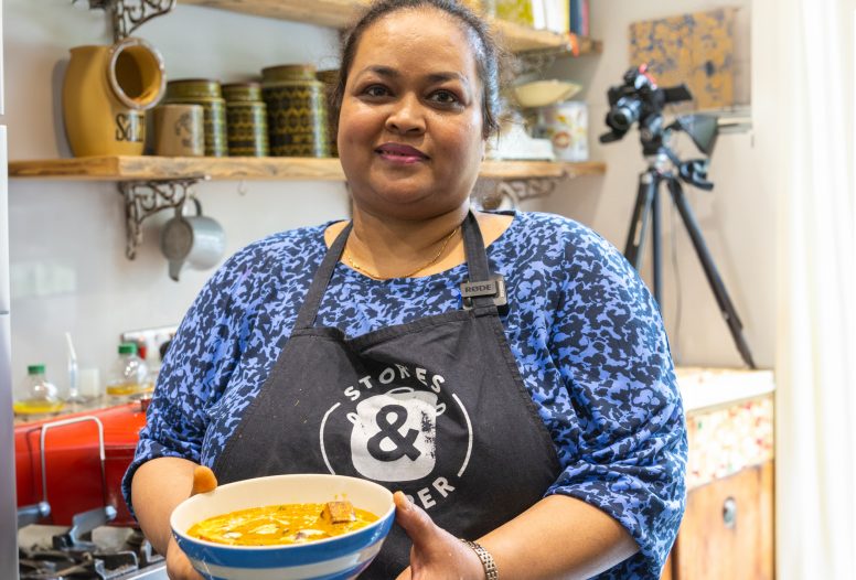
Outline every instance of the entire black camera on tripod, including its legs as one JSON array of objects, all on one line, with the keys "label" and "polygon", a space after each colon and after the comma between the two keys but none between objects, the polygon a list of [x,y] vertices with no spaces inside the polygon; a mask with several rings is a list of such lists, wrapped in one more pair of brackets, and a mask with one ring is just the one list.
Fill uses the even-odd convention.
[{"label": "entire black camera on tripod, including its legs", "polygon": [[627,135],[633,123],[639,123],[639,135],[642,142],[642,153],[648,160],[648,170],[639,175],[636,202],[630,219],[624,257],[636,269],[642,265],[642,254],[646,238],[649,222],[652,226],[653,243],[653,278],[654,299],[661,302],[661,258],[660,258],[660,186],[665,185],[672,202],[677,207],[687,234],[693,241],[707,281],[714,292],[719,310],[731,332],[737,351],[749,368],[755,368],[752,354],[742,334],[742,323],[737,315],[731,299],[726,291],[714,258],[707,249],[702,229],[693,215],[689,202],[684,195],[681,181],[703,190],[713,190],[714,184],[707,181],[707,159],[682,161],[668,147],[672,133],[684,131],[693,143],[707,157],[714,151],[714,143],[719,132],[718,118],[713,115],[683,115],[665,125],[663,107],[671,103],[691,100],[693,95],[686,85],[661,88],[649,73],[648,65],[631,68],[623,76],[623,83],[610,87],[607,93],[609,112],[607,126],[610,131],[600,136],[601,143],[618,141]]}]

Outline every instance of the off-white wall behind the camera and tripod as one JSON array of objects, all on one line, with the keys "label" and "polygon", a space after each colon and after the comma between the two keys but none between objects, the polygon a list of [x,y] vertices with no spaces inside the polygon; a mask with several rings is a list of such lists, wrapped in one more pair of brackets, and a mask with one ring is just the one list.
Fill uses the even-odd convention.
[{"label": "off-white wall behind the camera and tripod", "polygon": [[[621,141],[606,146],[601,146],[597,137],[607,131],[603,122],[608,110],[607,89],[620,84],[622,74],[631,66],[628,55],[629,25],[639,20],[725,6],[740,7],[741,14],[738,20],[746,21],[747,28],[751,21],[751,34],[748,34],[749,31],[740,34],[736,41],[736,51],[751,54],[755,63],[759,49],[769,41],[773,31],[762,25],[762,15],[759,18],[759,14],[750,13],[750,0],[592,2],[591,33],[603,41],[602,54],[557,62],[550,72],[579,80],[586,87],[585,93],[577,98],[588,103],[591,157],[606,161],[607,175],[567,182],[553,196],[542,201],[541,208],[575,217],[592,226],[619,248],[624,248],[636,196],[638,175],[644,171],[645,160],[635,129]],[[751,39],[747,37],[749,35]],[[747,46],[747,43],[751,44]],[[756,364],[770,367],[775,336],[775,194],[764,187],[768,176],[759,171],[761,157],[755,140],[756,133],[772,131],[768,135],[780,135],[781,128],[774,125],[775,119],[762,120],[758,117],[763,103],[774,98],[774,95],[764,90],[764,84],[759,82],[759,77],[763,78],[764,71],[757,71],[757,65],[749,67],[749,63],[741,61],[737,64],[741,76],[750,73],[747,67],[751,68],[753,130],[719,137],[708,175],[715,184],[711,192],[688,185],[684,185],[684,190],[726,289],[743,322],[745,336]],[[671,118],[671,115],[667,115],[667,118]],[[784,119],[778,121],[787,123]],[[770,122],[773,125],[769,125]],[[675,149],[682,159],[700,157],[686,136],[681,136],[675,141]],[[665,191],[662,201],[662,309],[675,359],[683,365],[742,366],[693,245]],[[671,227],[673,223],[675,228]],[[650,250],[649,243],[643,265],[643,272],[649,281],[651,278],[646,267],[651,262]]]}]

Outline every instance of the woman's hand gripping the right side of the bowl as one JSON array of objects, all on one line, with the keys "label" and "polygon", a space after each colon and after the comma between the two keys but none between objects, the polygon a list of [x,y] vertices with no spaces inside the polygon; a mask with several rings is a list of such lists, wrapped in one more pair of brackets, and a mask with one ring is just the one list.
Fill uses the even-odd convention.
[{"label": "woman's hand gripping the right side of the bowl", "polygon": [[414,543],[410,567],[397,580],[484,580],[481,560],[469,546],[435,525],[424,509],[395,492],[395,522]]}]

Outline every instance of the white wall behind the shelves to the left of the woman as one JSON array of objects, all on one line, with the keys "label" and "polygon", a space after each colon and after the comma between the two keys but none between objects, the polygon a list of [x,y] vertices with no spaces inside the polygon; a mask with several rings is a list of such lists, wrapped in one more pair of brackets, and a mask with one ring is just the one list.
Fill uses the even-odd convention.
[{"label": "white wall behind the shelves to the left of the woman", "polygon": [[[61,115],[68,49],[108,44],[103,11],[79,2],[7,0],[7,120],[12,160],[69,157]],[[145,24],[138,35],[163,54],[170,78],[246,79],[275,64],[310,62],[334,67],[336,35],[329,29],[178,7]],[[345,217],[341,183],[217,182],[197,186],[203,210],[221,222],[227,255],[267,234]],[[243,193],[242,193],[243,192]],[[115,183],[10,182],[13,369],[47,364],[64,386],[63,333],[75,340],[79,364],[103,377],[119,334],[176,324],[212,271],[167,276],[159,225],[147,221],[133,261],[125,258],[124,202]]]}]

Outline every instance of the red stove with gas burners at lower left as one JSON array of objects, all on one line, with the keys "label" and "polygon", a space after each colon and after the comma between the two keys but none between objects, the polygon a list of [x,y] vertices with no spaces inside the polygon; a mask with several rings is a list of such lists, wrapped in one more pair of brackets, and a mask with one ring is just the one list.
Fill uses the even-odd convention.
[{"label": "red stove with gas burners at lower left", "polygon": [[121,495],[145,422],[137,401],[15,427],[21,580],[167,578]]}]

